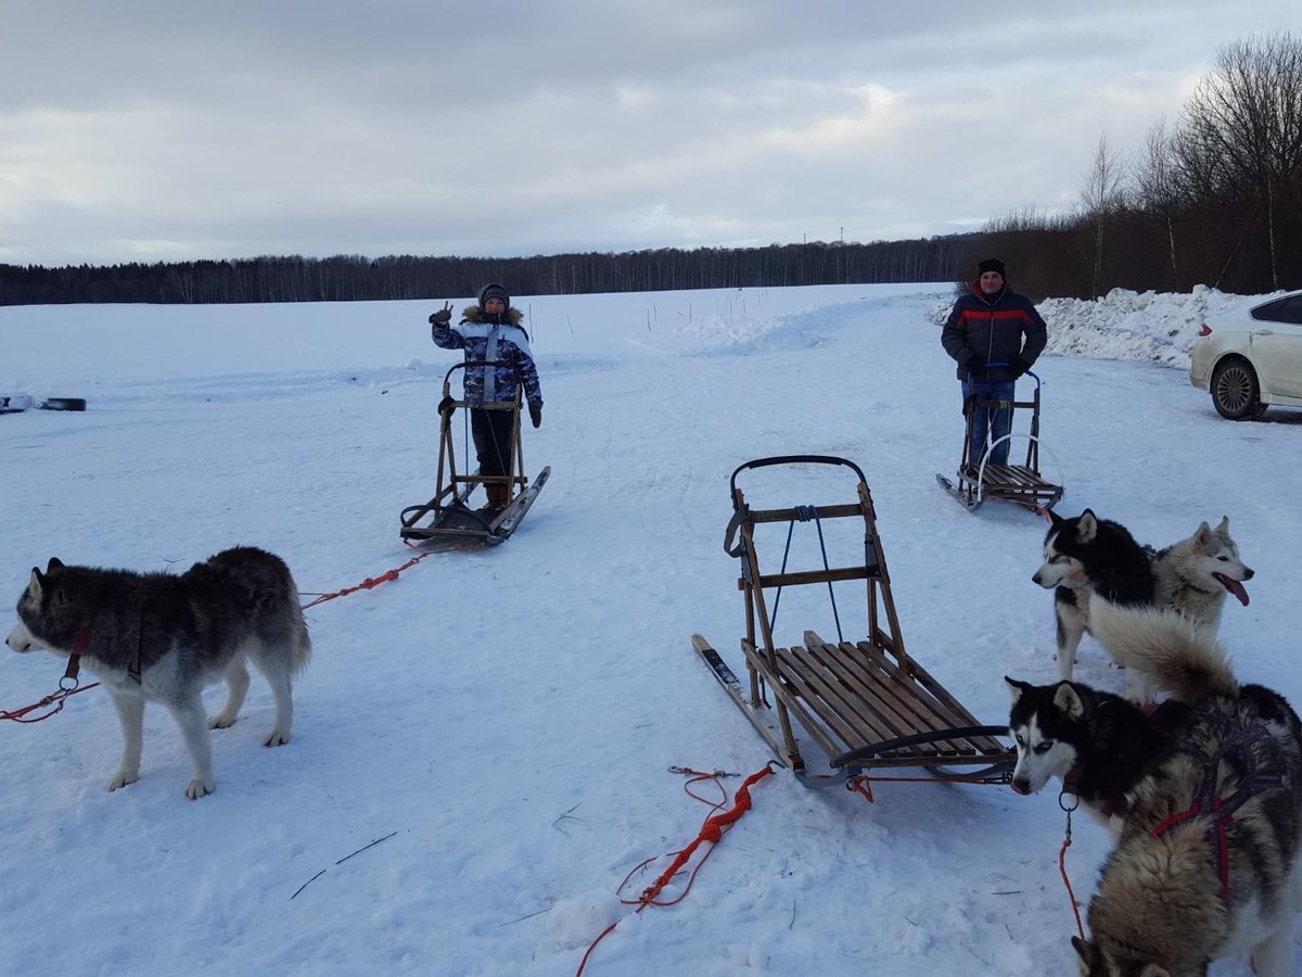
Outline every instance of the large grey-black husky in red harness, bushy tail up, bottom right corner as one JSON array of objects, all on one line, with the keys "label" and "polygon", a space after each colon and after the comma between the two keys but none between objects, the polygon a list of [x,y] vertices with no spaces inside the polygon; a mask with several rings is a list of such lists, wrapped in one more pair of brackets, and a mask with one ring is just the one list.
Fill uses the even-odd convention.
[{"label": "large grey-black husky in red harness, bushy tail up, bottom right corner", "polygon": [[1240,685],[1210,632],[1170,611],[1090,608],[1094,636],[1177,697],[1204,697],[1187,729],[1128,792],[1116,849],[1073,937],[1087,977],[1193,977],[1251,954],[1295,973],[1302,905],[1302,723],[1277,692]]}]

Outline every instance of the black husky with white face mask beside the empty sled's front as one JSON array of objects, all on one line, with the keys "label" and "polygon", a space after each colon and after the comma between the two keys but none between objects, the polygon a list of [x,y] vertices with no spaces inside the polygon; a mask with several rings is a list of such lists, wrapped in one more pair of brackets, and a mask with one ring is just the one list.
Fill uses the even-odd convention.
[{"label": "black husky with white face mask beside the empty sled's front", "polygon": [[1013,696],[1009,733],[1017,744],[1013,789],[1038,793],[1062,782],[1113,835],[1120,834],[1126,792],[1170,739],[1184,731],[1189,706],[1167,700],[1151,714],[1121,696],[1074,681],[1031,685],[1004,676]]}]

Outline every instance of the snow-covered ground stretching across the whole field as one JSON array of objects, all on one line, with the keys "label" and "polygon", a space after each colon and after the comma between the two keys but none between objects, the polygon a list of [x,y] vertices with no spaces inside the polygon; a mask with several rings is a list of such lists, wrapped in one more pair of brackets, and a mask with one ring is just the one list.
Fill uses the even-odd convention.
[{"label": "snow-covered ground stretching across the whole field", "polygon": [[[870,806],[784,771],[753,788],[681,903],[634,913],[616,895],[659,856],[624,895],[650,885],[710,813],[669,767],[747,775],[769,759],[689,645],[704,633],[742,672],[721,543],[743,461],[863,468],[909,650],[984,722],[1006,719],[1005,673],[1053,679],[1052,595],[1030,580],[1043,522],[967,513],[934,481],[961,444],[935,324],[949,294],[517,298],[546,400],[526,468],[551,465],[551,482],[504,546],[430,556],[307,612],[292,744],[262,746],[258,676],[241,722],[214,733],[217,791],[199,801],[158,706],[141,780],[113,793],[102,690],[0,723],[0,972],[572,974],[620,920],[590,977],[1074,973],[1052,789],[884,783]],[[1202,310],[1253,301],[1046,304],[1043,468],[1068,487],[1060,512],[1092,507],[1143,542],[1229,515],[1256,577],[1221,637],[1242,676],[1302,702],[1302,412],[1223,421],[1186,373]],[[90,404],[0,417],[3,599],[53,555],[184,569],[255,545],[305,598],[402,564],[398,511],[434,491],[435,405],[457,362],[430,343],[436,305],[0,309],[0,393]],[[853,499],[837,478],[781,488],[796,492],[783,505]],[[779,641],[833,632],[827,602],[797,594]],[[5,650],[0,709],[61,671]],[[1090,638],[1077,675],[1122,687]],[[723,783],[730,800],[740,779]],[[1105,852],[1078,817],[1082,901]]]}]

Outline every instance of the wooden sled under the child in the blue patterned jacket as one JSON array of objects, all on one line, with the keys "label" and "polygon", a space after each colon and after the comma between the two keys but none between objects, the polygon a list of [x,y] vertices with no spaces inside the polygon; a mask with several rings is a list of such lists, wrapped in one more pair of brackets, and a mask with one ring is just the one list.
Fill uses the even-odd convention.
[{"label": "wooden sled under the child in the blue patterned jacket", "polygon": [[[435,550],[496,546],[519,528],[525,515],[534,504],[534,499],[547,485],[547,478],[552,473],[549,466],[539,472],[533,482],[525,475],[525,452],[519,438],[519,404],[523,383],[517,388],[514,400],[488,403],[483,408],[512,413],[512,473],[480,475],[478,470],[474,474],[462,474],[457,469],[452,418],[458,408],[466,408],[466,401],[452,396],[452,376],[457,370],[492,369],[497,365],[496,361],[457,363],[444,375],[443,400],[439,403],[437,490],[430,502],[402,509],[402,528],[398,533],[404,539],[418,541],[423,548]],[[462,417],[466,416],[462,414]],[[510,495],[506,507],[496,512],[487,508],[470,508],[467,500],[475,486],[479,485],[508,486]]]}]

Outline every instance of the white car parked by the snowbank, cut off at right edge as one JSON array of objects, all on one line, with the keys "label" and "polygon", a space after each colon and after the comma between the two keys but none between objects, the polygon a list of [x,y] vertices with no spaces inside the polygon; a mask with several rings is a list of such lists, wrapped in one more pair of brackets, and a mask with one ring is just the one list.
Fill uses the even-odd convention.
[{"label": "white car parked by the snowbank, cut off at right edge", "polygon": [[1208,318],[1194,341],[1189,382],[1230,421],[1251,421],[1273,404],[1302,406],[1302,292]]}]

